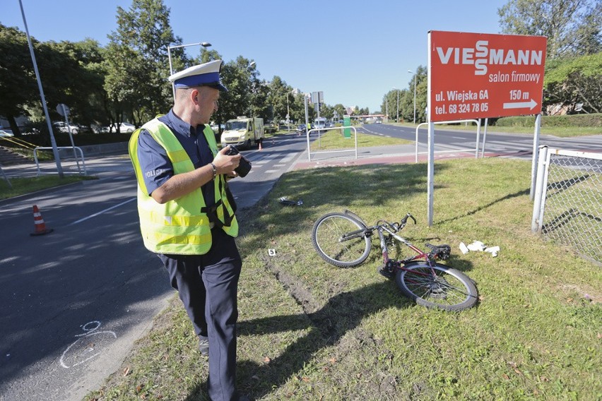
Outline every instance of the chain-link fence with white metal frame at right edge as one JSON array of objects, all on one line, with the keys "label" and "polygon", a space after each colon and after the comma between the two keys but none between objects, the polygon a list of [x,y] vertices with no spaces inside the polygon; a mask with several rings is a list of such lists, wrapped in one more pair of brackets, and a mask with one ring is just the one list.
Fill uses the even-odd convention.
[{"label": "chain-link fence with white metal frame at right edge", "polygon": [[541,148],[533,231],[602,265],[602,154]]}]

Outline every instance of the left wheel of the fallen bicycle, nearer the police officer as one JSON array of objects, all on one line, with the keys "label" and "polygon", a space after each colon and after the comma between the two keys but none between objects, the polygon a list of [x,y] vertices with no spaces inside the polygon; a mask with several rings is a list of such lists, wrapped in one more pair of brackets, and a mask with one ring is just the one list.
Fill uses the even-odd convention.
[{"label": "left wheel of the fallen bicycle, nearer the police officer", "polygon": [[357,266],[366,260],[372,241],[366,225],[344,213],[319,218],[312,230],[314,248],[324,261],[339,268]]}]

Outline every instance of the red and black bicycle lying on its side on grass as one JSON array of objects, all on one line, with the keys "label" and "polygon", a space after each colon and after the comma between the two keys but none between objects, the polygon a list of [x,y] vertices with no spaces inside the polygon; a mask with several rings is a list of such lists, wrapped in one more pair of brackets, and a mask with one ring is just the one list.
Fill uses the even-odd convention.
[{"label": "red and black bicycle lying on its side on grass", "polygon": [[[376,231],[384,262],[378,272],[395,279],[406,297],[419,305],[446,311],[461,311],[476,305],[478,292],[473,281],[459,270],[436,262],[437,259],[445,261],[449,258],[449,245],[426,244],[430,252],[425,253],[396,234],[406,227],[408,218],[416,224],[415,218],[408,213],[399,223],[379,220],[376,225],[368,227],[349,210],[329,213],[314,224],[312,241],[324,261],[340,268],[353,267],[367,259]],[[390,259],[387,246],[393,245],[394,240],[408,246],[417,255],[401,261]]]}]

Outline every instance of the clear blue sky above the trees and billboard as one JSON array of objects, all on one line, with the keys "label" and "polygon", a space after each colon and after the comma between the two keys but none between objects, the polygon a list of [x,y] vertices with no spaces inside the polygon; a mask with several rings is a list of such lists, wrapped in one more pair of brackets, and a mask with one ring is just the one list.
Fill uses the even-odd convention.
[{"label": "clear blue sky above the trees and billboard", "polygon": [[[22,0],[37,40],[86,37],[105,45],[117,6],[130,0]],[[392,88],[411,86],[409,70],[427,64],[427,32],[499,33],[507,0],[164,0],[184,44],[210,42],[225,61],[256,62],[259,78],[280,76],[327,104],[380,109]],[[0,22],[25,30],[18,0],[2,0]],[[187,47],[196,55],[199,47]],[[165,68],[169,68],[166,62]],[[43,80],[43,76],[42,76]]]}]

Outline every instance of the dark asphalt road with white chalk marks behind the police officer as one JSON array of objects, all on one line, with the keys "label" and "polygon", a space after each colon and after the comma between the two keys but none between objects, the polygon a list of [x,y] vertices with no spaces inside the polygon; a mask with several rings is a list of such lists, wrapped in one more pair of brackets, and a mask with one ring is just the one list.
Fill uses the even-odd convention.
[{"label": "dark asphalt road with white chalk marks behind the police officer", "polygon": [[[304,139],[242,152],[253,168],[230,181],[239,208],[293,166]],[[143,247],[129,159],[88,160],[86,169],[100,179],[0,202],[2,401],[81,400],[119,369],[175,294]],[[30,236],[33,205],[52,233]]]}]

